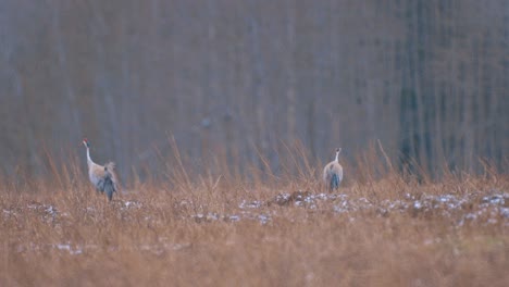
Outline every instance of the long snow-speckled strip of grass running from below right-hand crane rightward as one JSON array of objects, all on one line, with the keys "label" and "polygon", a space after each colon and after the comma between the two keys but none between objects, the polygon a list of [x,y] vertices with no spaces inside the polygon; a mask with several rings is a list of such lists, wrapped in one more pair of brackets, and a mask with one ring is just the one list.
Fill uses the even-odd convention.
[{"label": "long snow-speckled strip of grass running from below right-hand crane rightward", "polygon": [[[434,213],[444,217],[452,217],[452,214],[462,214],[456,223],[457,226],[464,225],[465,222],[483,221],[485,224],[495,224],[504,221],[509,226],[509,194],[491,190],[492,195],[480,198],[480,194],[472,192],[465,195],[426,195],[421,194],[419,198],[414,195],[406,194],[402,199],[382,200],[373,202],[367,198],[352,198],[345,194],[311,194],[309,191],[281,192],[266,202],[256,200],[243,200],[239,209],[245,211],[241,216],[245,219],[256,219],[256,210],[266,210],[271,205],[297,207],[309,210],[332,209],[336,214],[352,215],[359,211],[374,211],[378,216],[387,216],[390,213],[410,212],[413,215],[420,213]],[[472,210],[472,211],[470,211]],[[263,214],[260,214],[263,215]],[[261,216],[265,224],[271,221],[271,216]],[[355,220],[355,219],[352,219]]]}]

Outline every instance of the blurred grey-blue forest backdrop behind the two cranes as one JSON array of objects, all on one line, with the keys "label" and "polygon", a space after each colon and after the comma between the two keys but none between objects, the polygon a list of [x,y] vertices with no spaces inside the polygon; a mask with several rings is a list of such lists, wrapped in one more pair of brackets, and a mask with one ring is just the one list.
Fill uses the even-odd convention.
[{"label": "blurred grey-blue forest backdrop behind the two cranes", "polygon": [[45,150],[85,170],[83,137],[157,173],[169,136],[196,166],[380,139],[401,166],[507,169],[507,0],[2,0],[0,39],[1,174]]}]

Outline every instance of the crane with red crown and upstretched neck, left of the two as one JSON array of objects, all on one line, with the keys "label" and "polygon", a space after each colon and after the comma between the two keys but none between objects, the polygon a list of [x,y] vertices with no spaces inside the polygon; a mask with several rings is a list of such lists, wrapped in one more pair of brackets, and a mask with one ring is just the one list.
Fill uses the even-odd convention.
[{"label": "crane with red crown and upstretched neck, left of the two", "polygon": [[99,165],[90,159],[90,144],[85,138],[83,145],[87,148],[87,164],[88,164],[88,178],[96,187],[97,191],[105,192],[108,200],[111,201],[113,192],[119,190],[119,183],[116,180],[115,164],[109,162],[104,165]]}]

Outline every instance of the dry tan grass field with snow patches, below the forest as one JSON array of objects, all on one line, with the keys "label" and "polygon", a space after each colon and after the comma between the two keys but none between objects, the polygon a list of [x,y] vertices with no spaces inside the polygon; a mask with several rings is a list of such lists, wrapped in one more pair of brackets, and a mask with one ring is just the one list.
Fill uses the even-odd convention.
[{"label": "dry tan grass field with snow patches, below the forest", "polygon": [[250,179],[179,161],[108,203],[83,165],[57,165],[0,180],[1,286],[509,285],[509,180],[493,171],[419,184],[359,164],[330,195],[308,161]]}]

